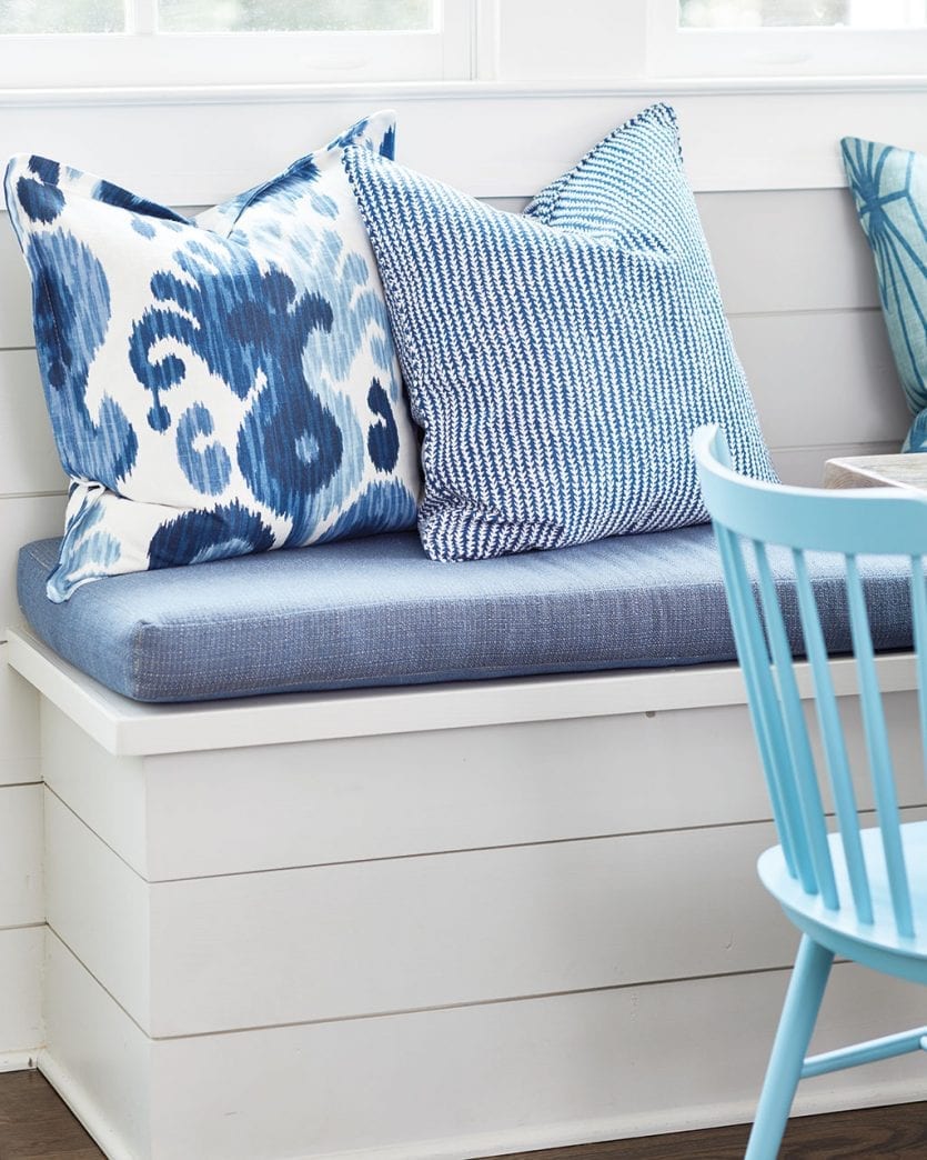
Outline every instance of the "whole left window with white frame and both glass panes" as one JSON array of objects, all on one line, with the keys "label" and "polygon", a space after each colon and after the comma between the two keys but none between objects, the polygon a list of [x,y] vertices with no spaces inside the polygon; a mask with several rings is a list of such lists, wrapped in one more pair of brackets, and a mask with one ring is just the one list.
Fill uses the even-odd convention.
[{"label": "whole left window with white frame and both glass panes", "polygon": [[5,88],[472,75],[475,0],[0,0]]}]

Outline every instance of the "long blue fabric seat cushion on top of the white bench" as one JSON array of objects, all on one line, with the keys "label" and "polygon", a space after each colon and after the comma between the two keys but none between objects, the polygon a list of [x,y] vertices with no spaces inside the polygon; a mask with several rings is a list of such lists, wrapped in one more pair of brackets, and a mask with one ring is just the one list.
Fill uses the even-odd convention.
[{"label": "long blue fabric seat cushion on top of the white bench", "polygon": [[[735,657],[708,525],[468,564],[436,564],[414,532],[397,532],[111,577],[64,604],[45,596],[57,553],[56,539],[20,553],[28,621],[66,660],[138,701]],[[773,563],[788,574],[784,553]],[[903,565],[864,564],[876,647],[904,647]],[[846,650],[835,558],[817,557],[813,578],[829,646]]]}]

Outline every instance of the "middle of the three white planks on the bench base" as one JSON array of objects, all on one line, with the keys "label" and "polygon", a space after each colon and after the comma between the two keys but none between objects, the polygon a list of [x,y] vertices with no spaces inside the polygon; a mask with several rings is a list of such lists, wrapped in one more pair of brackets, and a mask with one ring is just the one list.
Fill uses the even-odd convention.
[{"label": "middle of the three white planks on the bench base", "polygon": [[148,887],[49,793],[48,916],[148,1034],[207,1034],[784,966],[794,931],[753,869],[773,841],[739,825]]}]

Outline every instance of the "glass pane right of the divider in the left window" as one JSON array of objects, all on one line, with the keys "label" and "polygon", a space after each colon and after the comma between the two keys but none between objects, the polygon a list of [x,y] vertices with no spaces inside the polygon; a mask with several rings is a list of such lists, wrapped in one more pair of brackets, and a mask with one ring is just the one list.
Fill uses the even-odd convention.
[{"label": "glass pane right of the divider in the left window", "polygon": [[433,0],[159,0],[162,32],[423,30]]}]

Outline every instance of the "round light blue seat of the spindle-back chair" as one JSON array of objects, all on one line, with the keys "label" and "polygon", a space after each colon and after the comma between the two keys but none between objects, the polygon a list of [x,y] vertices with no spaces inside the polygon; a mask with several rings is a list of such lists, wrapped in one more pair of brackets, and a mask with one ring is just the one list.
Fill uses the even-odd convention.
[{"label": "round light blue seat of the spindle-back chair", "polygon": [[764,886],[791,921],[816,942],[874,970],[927,983],[927,821],[906,822],[900,832],[913,891],[913,937],[904,937],[896,929],[882,832],[876,827],[863,829],[860,835],[875,915],[871,923],[856,918],[839,834],[829,838],[841,904],[838,911],[829,911],[820,896],[804,892],[801,883],[789,875],[781,846],[766,850],[757,869]]}]

